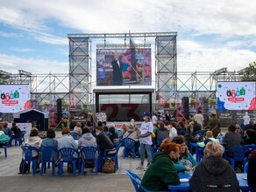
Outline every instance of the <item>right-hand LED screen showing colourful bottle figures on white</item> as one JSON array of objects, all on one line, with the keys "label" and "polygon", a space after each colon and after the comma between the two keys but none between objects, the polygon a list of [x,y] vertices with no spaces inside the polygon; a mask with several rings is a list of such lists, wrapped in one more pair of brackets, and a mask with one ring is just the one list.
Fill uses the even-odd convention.
[{"label": "right-hand LED screen showing colourful bottle figures on white", "polygon": [[255,82],[217,82],[217,110],[256,110]]}]

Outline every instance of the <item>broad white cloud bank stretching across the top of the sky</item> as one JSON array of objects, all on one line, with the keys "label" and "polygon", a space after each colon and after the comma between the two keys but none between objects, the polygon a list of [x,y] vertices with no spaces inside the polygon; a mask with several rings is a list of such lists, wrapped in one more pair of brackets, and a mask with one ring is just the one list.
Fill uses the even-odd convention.
[{"label": "broad white cloud bank stretching across the top of the sky", "polygon": [[82,32],[185,30],[250,35],[256,31],[256,2],[251,0],[9,0],[3,4],[0,20],[37,31],[48,30],[48,20]]}]

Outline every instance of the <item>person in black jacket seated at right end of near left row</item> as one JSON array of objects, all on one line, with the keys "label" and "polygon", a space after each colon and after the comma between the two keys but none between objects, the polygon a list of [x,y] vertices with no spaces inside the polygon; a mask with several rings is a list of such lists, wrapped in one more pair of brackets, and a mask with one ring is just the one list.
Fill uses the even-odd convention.
[{"label": "person in black jacket seated at right end of near left row", "polygon": [[[100,147],[101,155],[103,156],[105,149],[114,149],[114,144],[110,141],[110,138],[104,134],[103,127],[96,127],[96,142]],[[115,153],[113,153],[114,155]]]}]

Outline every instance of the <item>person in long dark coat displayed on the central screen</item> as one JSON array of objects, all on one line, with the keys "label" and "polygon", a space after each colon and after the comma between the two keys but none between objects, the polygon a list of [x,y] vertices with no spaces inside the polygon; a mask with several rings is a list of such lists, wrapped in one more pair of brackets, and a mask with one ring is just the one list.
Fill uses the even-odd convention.
[{"label": "person in long dark coat displayed on the central screen", "polygon": [[111,62],[113,75],[112,75],[112,86],[123,85],[123,63],[119,60],[117,53],[114,53],[113,61]]}]

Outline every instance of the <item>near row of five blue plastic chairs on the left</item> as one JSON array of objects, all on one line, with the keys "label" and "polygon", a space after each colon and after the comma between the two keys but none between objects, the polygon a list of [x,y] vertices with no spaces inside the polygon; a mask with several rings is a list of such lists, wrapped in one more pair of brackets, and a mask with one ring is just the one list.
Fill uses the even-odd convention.
[{"label": "near row of five blue plastic chairs on the left", "polygon": [[[22,146],[22,150],[24,152],[24,165],[23,170],[25,168],[25,162],[29,164],[31,167],[32,163],[32,174],[35,175],[36,173],[36,165],[37,162],[41,162],[40,168],[40,175],[46,173],[46,167],[49,168],[50,164],[52,164],[52,173],[55,175],[55,163],[56,160],[59,160],[59,175],[63,174],[63,164],[68,163],[73,165],[73,175],[76,175],[76,166],[78,166],[79,174],[84,173],[84,168],[86,168],[86,164],[89,161],[94,161],[94,165],[96,168],[96,174],[98,173],[99,169],[103,166],[103,161],[106,158],[112,159],[115,161],[115,168],[118,169],[118,159],[117,154],[119,151],[119,147],[121,143],[118,143],[117,146],[113,149],[105,149],[103,156],[100,155],[99,147],[82,147],[82,149],[78,152],[74,148],[64,147],[61,148],[59,151],[56,147],[31,147],[31,146]],[[37,151],[39,153],[38,157],[32,157],[32,151]],[[114,155],[110,152],[116,152]],[[54,158],[55,157],[55,158]],[[56,158],[57,157],[57,158]],[[60,157],[60,159],[59,159]],[[30,170],[29,170],[30,171]]]}]

